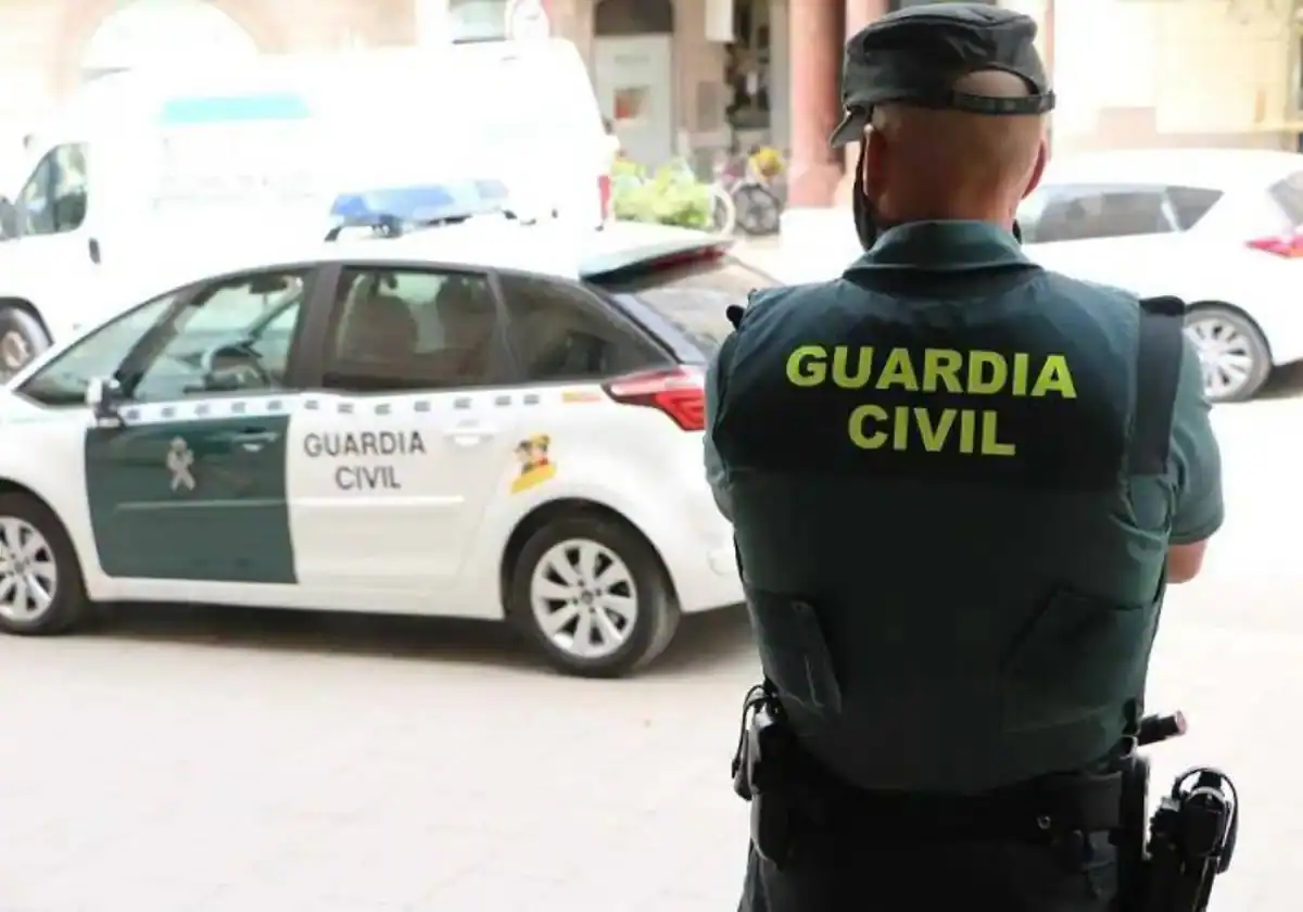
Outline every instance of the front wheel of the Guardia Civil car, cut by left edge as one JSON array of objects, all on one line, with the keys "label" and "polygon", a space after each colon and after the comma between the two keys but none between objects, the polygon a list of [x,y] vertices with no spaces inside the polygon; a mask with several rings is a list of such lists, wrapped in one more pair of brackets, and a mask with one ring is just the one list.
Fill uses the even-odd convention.
[{"label": "front wheel of the Guardia Civil car, cut by left edge", "polygon": [[[50,507],[22,491],[0,494],[0,631],[55,636],[72,629],[86,611],[86,584],[68,532]],[[50,594],[44,606],[18,581],[14,551]]]}]

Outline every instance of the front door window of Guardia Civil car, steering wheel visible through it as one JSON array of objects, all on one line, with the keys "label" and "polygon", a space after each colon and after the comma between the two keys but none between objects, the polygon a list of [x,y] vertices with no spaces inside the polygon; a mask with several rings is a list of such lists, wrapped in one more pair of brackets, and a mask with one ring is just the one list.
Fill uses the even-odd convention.
[{"label": "front door window of Guardia Civil car, steering wheel visible through it", "polygon": [[306,289],[308,274],[297,270],[205,285],[124,353],[122,393],[156,403],[283,390]]}]

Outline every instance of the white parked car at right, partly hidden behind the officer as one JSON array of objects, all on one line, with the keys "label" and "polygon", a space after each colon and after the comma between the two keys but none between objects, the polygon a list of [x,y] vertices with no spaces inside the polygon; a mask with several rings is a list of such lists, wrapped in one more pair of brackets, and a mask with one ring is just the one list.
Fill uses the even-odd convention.
[{"label": "white parked car at right, partly hidden behind the officer", "polygon": [[1303,358],[1303,155],[1070,158],[1050,165],[1019,224],[1048,268],[1186,300],[1212,401],[1250,399],[1274,365]]}]

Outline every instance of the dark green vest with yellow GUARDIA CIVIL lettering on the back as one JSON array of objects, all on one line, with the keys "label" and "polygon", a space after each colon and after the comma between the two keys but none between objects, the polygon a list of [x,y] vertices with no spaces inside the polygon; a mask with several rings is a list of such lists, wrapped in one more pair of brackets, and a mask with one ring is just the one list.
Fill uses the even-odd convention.
[{"label": "dark green vest with yellow GUARDIA CIVIL lettering on the back", "polygon": [[[766,322],[761,306],[730,340],[714,442],[764,671],[803,743],[863,788],[973,792],[1080,769],[1139,714],[1166,537],[1149,535],[1136,562],[1117,504],[1136,479],[1169,473],[1184,305],[1141,301],[1135,352],[1098,352],[1080,302],[1080,331],[1033,326],[1027,304],[1038,291],[1046,306],[1033,288],[1046,276],[988,272],[956,321],[945,304],[973,298],[971,274],[848,274],[864,292],[853,318],[807,301]],[[986,366],[956,373],[956,357]],[[1016,547],[993,542],[997,529]],[[949,560],[968,546],[1025,554],[1028,567],[1066,554],[1071,585],[1024,586],[1031,575],[1012,562],[958,571],[929,559],[929,547]],[[1151,586],[1143,599],[1091,585],[1095,565],[1102,578],[1139,563],[1157,575],[1138,584]],[[950,573],[1007,603],[911,602],[929,580],[964,591]]]}]

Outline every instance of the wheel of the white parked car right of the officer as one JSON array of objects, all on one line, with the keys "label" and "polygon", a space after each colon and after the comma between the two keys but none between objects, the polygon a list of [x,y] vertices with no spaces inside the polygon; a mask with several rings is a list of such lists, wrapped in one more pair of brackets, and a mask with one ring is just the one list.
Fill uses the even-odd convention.
[{"label": "wheel of the white parked car right of the officer", "polygon": [[[1186,315],[1186,335],[1199,350],[1204,395],[1210,403],[1243,403],[1257,395],[1272,374],[1272,350],[1261,330],[1235,307],[1196,304]],[[1217,357],[1237,357],[1237,365],[1217,366]],[[1247,367],[1238,366],[1240,357]],[[1213,361],[1209,361],[1213,360]]]}]

